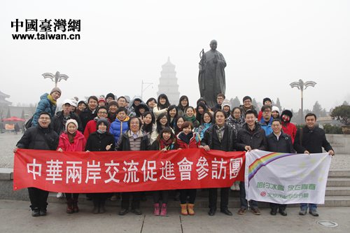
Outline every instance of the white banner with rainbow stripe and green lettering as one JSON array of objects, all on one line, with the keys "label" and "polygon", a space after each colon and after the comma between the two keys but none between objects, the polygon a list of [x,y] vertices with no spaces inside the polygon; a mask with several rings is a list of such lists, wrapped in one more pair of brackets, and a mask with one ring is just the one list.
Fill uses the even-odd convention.
[{"label": "white banner with rainbow stripe and green lettering", "polygon": [[328,153],[246,153],[246,199],[279,204],[324,204],[332,157]]}]

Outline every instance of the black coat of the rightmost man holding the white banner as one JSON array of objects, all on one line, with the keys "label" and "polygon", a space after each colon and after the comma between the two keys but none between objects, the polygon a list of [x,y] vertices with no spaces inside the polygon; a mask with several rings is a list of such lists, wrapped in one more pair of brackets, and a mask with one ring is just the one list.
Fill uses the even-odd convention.
[{"label": "black coat of the rightmost man holding the white banner", "polygon": [[[300,144],[301,141],[301,144]],[[300,129],[297,129],[297,135],[294,140],[294,149],[297,153],[304,153],[305,150],[309,153],[322,153],[322,148],[327,152],[332,150],[332,146],[325,139],[325,132],[319,127],[309,129],[307,126],[302,127],[302,138],[300,140]]]}]

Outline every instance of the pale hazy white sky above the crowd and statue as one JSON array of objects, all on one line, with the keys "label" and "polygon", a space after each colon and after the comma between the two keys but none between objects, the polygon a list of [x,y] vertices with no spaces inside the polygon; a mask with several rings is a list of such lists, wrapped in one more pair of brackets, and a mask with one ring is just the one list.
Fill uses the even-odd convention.
[{"label": "pale hazy white sky above the crowd and statue", "polygon": [[[15,41],[15,19],[78,19],[77,41]],[[61,101],[113,92],[156,97],[162,64],[176,65],[179,91],[200,97],[199,53],[218,41],[228,66],[226,97],[244,95],[300,108],[289,83],[316,81],[304,108],[327,110],[350,101],[349,1],[2,1],[1,92],[13,104],[36,103],[53,83],[42,73],[60,71]],[[25,29],[20,30],[25,34]],[[177,104],[177,103],[176,103]]]}]

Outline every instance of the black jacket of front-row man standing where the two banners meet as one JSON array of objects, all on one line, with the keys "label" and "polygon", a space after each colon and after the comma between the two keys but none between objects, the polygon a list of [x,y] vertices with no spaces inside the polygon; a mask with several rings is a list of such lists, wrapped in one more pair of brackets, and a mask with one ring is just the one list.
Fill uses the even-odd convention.
[{"label": "black jacket of front-row man standing where the two banners meet", "polygon": [[248,128],[248,125],[244,123],[243,127],[238,130],[236,149],[245,150],[245,146],[251,146],[251,149],[267,150],[265,130],[255,122],[255,128],[253,131]]}]

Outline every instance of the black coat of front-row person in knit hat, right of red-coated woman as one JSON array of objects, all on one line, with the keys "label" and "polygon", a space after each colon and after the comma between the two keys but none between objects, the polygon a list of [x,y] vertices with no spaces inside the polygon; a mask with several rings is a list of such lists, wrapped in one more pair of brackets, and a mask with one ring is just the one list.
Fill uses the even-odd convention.
[{"label": "black coat of front-row person in knit hat, right of red-coated woman", "polygon": [[114,148],[116,148],[116,142],[114,141],[114,136],[112,134],[109,132],[105,132],[104,134],[93,132],[87,138],[85,150],[106,151],[106,146],[108,145],[111,145],[109,151],[113,151]]}]

